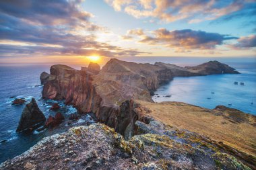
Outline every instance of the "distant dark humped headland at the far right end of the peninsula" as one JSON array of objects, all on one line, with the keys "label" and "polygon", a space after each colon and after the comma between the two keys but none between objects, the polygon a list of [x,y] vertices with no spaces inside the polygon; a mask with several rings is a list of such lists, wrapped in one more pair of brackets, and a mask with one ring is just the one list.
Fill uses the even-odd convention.
[{"label": "distant dark humped headland at the far right end of the peninsula", "polygon": [[239,74],[238,71],[235,71],[234,68],[229,67],[221,62],[216,60],[205,62],[201,65],[195,67],[185,67],[191,73],[198,73],[201,75],[214,75],[214,74]]}]

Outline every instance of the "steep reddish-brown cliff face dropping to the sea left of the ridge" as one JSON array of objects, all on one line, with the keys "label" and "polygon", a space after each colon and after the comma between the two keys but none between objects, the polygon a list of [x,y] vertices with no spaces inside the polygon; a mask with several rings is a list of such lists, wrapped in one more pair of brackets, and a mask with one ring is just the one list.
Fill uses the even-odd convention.
[{"label": "steep reddish-brown cliff face dropping to the sea left of the ridge", "polygon": [[65,99],[65,103],[74,105],[79,112],[94,112],[101,98],[92,85],[93,75],[86,71],[76,71],[65,65],[53,65],[51,75],[42,91],[47,99]]}]

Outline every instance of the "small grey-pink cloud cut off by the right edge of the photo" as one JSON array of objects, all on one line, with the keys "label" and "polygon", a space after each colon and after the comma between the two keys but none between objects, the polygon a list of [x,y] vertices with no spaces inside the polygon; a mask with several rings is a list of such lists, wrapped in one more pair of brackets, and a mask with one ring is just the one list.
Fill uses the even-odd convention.
[{"label": "small grey-pink cloud cut off by the right edge of the photo", "polygon": [[256,35],[244,36],[237,40],[236,44],[230,45],[231,48],[236,50],[245,50],[248,48],[256,47]]}]

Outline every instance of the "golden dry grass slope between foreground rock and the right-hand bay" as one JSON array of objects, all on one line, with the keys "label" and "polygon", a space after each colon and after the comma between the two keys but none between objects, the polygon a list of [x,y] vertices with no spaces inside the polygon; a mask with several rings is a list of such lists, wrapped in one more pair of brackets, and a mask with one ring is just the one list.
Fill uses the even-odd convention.
[{"label": "golden dry grass slope between foreground rock and the right-hand bay", "polygon": [[256,156],[255,116],[249,121],[234,122],[226,114],[181,102],[149,103],[139,101],[151,110],[151,115],[171,126],[187,129],[222,141],[239,151]]}]

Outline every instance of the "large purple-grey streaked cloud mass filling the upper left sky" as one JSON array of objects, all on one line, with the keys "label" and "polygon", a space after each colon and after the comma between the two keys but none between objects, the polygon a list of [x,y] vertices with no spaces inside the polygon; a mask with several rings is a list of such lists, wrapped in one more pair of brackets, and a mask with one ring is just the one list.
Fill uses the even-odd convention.
[{"label": "large purple-grey streaked cloud mass filling the upper left sky", "polygon": [[82,10],[81,3],[79,0],[0,1],[1,56],[142,53],[96,41],[94,33],[104,28],[90,22],[93,15]]}]

